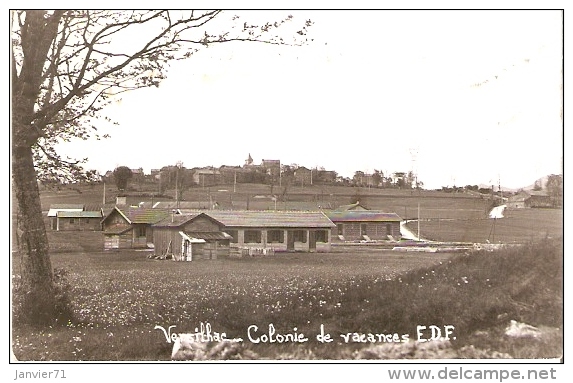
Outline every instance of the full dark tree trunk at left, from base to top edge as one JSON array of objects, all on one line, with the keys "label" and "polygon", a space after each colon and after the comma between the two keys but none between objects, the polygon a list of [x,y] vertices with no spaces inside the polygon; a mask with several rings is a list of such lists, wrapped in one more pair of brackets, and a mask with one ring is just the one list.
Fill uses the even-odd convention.
[{"label": "full dark tree trunk at left, from base to top edge", "polygon": [[44,133],[45,116],[35,114],[41,93],[47,53],[57,35],[64,11],[27,11],[21,28],[23,56],[20,72],[12,58],[12,181],[18,201],[17,236],[20,288],[14,294],[14,319],[33,324],[52,323],[57,318],[57,299],[48,237],[42,217],[40,190],[32,147]]}]

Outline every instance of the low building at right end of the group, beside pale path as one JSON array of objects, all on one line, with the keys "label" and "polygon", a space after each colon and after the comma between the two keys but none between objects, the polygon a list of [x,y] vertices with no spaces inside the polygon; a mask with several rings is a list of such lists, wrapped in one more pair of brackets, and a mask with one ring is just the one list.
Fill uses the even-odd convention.
[{"label": "low building at right end of the group, beside pale path", "polygon": [[327,213],[336,225],[333,236],[339,241],[399,240],[402,218],[377,210],[341,210]]}]

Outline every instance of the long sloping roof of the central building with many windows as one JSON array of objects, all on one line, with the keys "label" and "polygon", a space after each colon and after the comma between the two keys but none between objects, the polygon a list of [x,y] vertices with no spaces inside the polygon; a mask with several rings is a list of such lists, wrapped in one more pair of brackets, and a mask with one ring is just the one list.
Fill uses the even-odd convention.
[{"label": "long sloping roof of the central building with many windows", "polygon": [[323,212],[209,210],[205,214],[226,227],[334,227]]}]

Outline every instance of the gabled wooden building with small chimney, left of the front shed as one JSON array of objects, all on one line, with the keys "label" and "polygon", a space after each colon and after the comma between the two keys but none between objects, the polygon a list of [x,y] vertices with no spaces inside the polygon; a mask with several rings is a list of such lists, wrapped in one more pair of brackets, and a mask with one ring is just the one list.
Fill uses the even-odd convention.
[{"label": "gabled wooden building with small chimney, left of the front shed", "polygon": [[114,209],[101,221],[104,249],[146,248],[153,243],[152,225],[168,217],[161,209],[127,207]]}]

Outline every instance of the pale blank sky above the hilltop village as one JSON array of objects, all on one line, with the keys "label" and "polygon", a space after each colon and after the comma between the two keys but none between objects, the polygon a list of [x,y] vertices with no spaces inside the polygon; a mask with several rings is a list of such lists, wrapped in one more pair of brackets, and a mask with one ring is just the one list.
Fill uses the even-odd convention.
[{"label": "pale blank sky above the hilltop village", "polygon": [[427,188],[561,173],[559,11],[264,12],[313,20],[314,42],[204,49],[106,110],[111,138],[60,150],[102,173],[250,153],[348,177],[414,170]]}]

